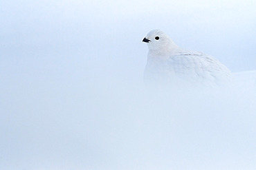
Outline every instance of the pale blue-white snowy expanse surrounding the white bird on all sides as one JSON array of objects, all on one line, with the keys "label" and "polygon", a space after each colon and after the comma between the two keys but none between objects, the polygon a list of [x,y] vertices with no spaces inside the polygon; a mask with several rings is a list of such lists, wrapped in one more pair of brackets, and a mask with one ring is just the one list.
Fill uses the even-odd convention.
[{"label": "pale blue-white snowy expanse surrounding the white bird on all sides", "polygon": [[[186,2],[3,1],[0,169],[255,169],[255,3]],[[156,27],[235,87],[147,89]]]}]

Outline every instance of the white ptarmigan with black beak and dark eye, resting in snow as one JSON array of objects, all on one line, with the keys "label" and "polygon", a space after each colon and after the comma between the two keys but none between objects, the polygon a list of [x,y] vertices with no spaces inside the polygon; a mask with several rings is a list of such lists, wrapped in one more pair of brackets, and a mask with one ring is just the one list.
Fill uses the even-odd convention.
[{"label": "white ptarmigan with black beak and dark eye, resting in snow", "polygon": [[152,30],[147,43],[146,84],[203,85],[219,87],[231,81],[228,68],[212,56],[178,47],[161,30]]}]

